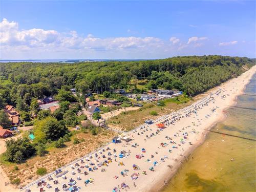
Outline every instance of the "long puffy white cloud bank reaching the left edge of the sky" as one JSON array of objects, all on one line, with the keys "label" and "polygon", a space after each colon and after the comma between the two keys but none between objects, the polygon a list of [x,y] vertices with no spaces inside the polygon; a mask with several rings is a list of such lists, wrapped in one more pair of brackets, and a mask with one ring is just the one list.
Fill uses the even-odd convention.
[{"label": "long puffy white cloud bank reaching the left edge of the sky", "polygon": [[6,18],[1,22],[2,46],[46,47],[53,46],[67,49],[147,49],[159,47],[162,40],[156,37],[108,37],[96,38],[92,34],[79,36],[76,31],[68,35],[55,30],[30,29],[19,30],[18,24]]}]

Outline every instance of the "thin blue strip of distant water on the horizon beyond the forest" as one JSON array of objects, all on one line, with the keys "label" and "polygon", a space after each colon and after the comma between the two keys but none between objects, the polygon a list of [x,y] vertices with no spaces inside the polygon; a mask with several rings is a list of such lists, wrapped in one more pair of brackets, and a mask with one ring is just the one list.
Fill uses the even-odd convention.
[{"label": "thin blue strip of distant water on the horizon beyond the forest", "polygon": [[96,61],[138,61],[138,60],[154,60],[154,59],[28,59],[28,60],[0,60],[0,62],[63,62],[63,63],[74,63],[74,62],[96,62]]}]

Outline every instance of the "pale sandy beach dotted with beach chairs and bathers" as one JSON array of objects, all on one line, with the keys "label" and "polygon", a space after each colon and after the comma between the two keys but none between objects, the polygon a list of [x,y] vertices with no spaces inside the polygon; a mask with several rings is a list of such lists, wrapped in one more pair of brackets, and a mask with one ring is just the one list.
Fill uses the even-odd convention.
[{"label": "pale sandy beach dotted with beach chairs and bathers", "polygon": [[[236,103],[255,69],[209,90],[207,96],[184,109],[137,127],[126,134],[132,139],[129,143],[109,143],[91,157],[60,168],[61,173],[52,174],[51,180],[45,177],[42,183],[38,180],[22,191],[159,190],[204,142],[206,130],[225,118],[225,109]],[[159,123],[164,124],[163,129]],[[62,173],[66,174],[57,177]]]}]

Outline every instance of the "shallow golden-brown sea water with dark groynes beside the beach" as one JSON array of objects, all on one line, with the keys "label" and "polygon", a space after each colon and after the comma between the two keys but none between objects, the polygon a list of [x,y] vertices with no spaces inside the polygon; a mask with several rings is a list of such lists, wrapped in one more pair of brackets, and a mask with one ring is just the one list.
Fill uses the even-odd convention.
[{"label": "shallow golden-brown sea water with dark groynes beside the beach", "polygon": [[[256,139],[256,74],[213,131]],[[163,188],[167,191],[256,191],[256,141],[210,132]]]}]

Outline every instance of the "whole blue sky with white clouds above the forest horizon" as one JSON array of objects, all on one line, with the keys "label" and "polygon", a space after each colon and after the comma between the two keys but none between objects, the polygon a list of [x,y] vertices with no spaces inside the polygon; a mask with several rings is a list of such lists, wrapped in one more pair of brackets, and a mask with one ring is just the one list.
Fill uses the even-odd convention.
[{"label": "whole blue sky with white clouds above the forest horizon", "polygon": [[1,0],[0,59],[256,58],[255,1]]}]

